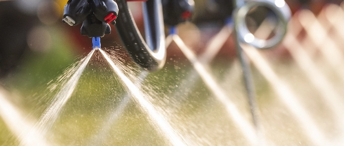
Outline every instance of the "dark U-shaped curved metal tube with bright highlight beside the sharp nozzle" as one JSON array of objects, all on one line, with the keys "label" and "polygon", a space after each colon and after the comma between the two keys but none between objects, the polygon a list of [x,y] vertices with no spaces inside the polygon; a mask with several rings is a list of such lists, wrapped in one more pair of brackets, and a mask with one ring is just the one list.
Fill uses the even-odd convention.
[{"label": "dark U-shaped curved metal tube with bright highlight beside the sharp nozzle", "polygon": [[161,69],[166,61],[161,0],[143,2],[146,41],[137,29],[127,0],[116,0],[116,2],[120,12],[115,26],[131,58],[148,71]]}]

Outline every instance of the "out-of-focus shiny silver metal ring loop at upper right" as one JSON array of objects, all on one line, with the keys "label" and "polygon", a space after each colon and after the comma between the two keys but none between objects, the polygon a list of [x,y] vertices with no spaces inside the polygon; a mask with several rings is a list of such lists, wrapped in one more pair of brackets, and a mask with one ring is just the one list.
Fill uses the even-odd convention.
[{"label": "out-of-focus shiny silver metal ring loop at upper right", "polygon": [[[248,12],[258,6],[267,7],[276,14],[278,18],[278,30],[274,37],[265,40],[255,37],[247,28],[245,18]],[[237,10],[234,13],[236,33],[240,42],[245,42],[258,49],[271,48],[280,43],[287,32],[288,21],[291,12],[284,0],[254,0],[243,2],[237,1]]]}]

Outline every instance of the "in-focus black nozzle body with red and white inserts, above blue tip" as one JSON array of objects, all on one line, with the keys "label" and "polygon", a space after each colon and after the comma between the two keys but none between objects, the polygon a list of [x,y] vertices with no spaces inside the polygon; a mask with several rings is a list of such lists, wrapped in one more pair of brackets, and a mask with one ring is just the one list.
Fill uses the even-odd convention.
[{"label": "in-focus black nozzle body with red and white inserts, above blue tip", "polygon": [[68,0],[64,6],[64,23],[83,23],[81,35],[104,37],[111,33],[108,23],[115,24],[118,6],[114,0]]}]

